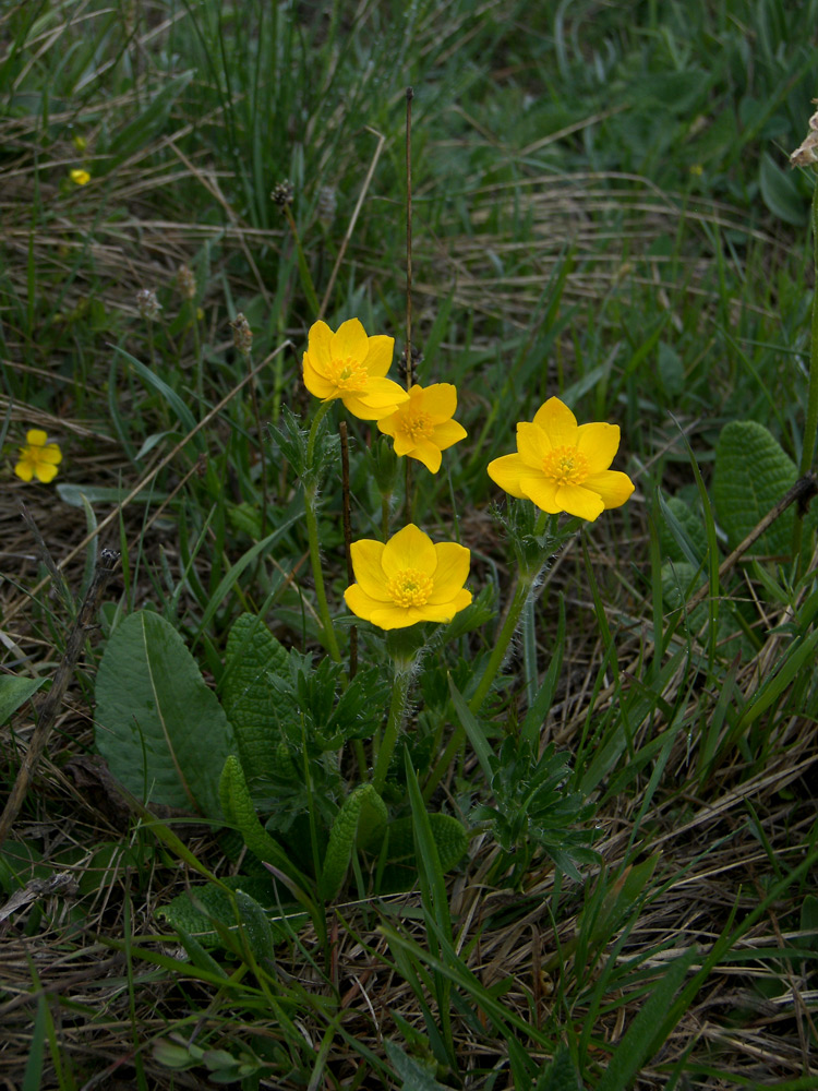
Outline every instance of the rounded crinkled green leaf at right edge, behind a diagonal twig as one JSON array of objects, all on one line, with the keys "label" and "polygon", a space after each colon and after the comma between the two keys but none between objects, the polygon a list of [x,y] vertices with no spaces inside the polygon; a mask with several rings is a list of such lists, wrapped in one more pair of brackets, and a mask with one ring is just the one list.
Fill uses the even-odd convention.
[{"label": "rounded crinkled green leaf at right edge, behind a diagonal twig", "polygon": [[[731,421],[715,447],[713,503],[734,549],[795,483],[795,463],[754,420]],[[789,508],[754,547],[757,553],[789,555],[793,511]]]}]

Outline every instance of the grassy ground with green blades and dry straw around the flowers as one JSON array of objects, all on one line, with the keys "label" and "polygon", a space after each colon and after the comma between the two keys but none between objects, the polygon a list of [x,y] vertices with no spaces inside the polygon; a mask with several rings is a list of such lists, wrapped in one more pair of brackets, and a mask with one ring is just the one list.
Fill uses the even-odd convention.
[{"label": "grassy ground with green blades and dry straw around the flowers", "polygon": [[[35,704],[97,546],[122,554],[0,848],[4,1087],[818,1086],[809,517],[797,552],[790,509],[719,571],[813,442],[813,184],[787,156],[813,111],[817,16],[775,0],[0,7],[0,656],[3,676],[46,680]],[[469,719],[446,672],[468,690],[515,572],[485,466],[557,394],[622,427],[636,493],[552,559],[470,728],[500,753],[533,707],[581,808],[508,851],[468,745],[430,793],[469,830],[445,887],[421,822],[410,889],[385,892],[362,858],[324,915],[297,906],[276,933],[245,920],[206,946],[163,909],[248,854],[129,807],[96,754],[95,679],[145,607],[213,687],[245,611],[317,662],[275,435],[314,411],[300,361],[320,309],[402,347],[407,85],[419,377],[457,384],[469,432],[440,475],[416,470],[413,515],[468,546],[469,586],[488,589],[419,682],[408,753],[422,789]],[[269,195],[285,179],[292,225]],[[748,421],[763,435],[735,431]],[[51,484],[14,477],[32,428],[63,451]],[[354,532],[372,537],[371,429],[350,431]],[[334,477],[322,502],[340,615]],[[8,791],[35,721],[31,703],[5,717]],[[311,820],[356,781],[347,759],[330,772]]]}]

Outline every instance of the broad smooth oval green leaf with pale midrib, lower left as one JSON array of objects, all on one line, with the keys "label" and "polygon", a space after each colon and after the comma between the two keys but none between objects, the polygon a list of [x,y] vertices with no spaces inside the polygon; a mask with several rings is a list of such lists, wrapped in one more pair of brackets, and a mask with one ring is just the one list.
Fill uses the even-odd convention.
[{"label": "broad smooth oval green leaf with pale midrib, lower left", "polygon": [[96,681],[96,744],[140,800],[221,818],[232,729],[173,626],[147,610],[117,627]]}]

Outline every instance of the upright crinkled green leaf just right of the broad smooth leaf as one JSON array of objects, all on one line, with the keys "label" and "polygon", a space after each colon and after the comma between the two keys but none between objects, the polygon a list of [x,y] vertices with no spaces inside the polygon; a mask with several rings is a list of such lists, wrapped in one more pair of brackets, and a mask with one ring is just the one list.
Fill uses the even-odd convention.
[{"label": "upright crinkled green leaf just right of the broad smooth leaf", "polygon": [[275,774],[280,765],[272,674],[287,666],[287,651],[261,618],[244,613],[227,638],[227,661],[221,702],[236,734],[239,758],[246,777]]}]

